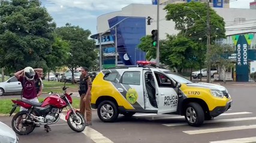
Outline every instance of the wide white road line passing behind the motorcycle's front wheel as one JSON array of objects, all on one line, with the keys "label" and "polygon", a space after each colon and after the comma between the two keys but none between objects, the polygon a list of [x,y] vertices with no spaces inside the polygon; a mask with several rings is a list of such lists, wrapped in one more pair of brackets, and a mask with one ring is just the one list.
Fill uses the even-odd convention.
[{"label": "wide white road line passing behind the motorcycle's front wheel", "polygon": [[[61,114],[61,119],[66,121],[65,116],[63,114]],[[103,134],[98,132],[97,130],[92,129],[88,126],[86,126],[85,130],[83,130],[82,133],[85,134],[86,136],[88,136],[89,138],[91,138],[92,141],[94,141],[95,143],[103,143],[103,142],[104,143],[114,143],[109,138],[107,138],[106,136],[104,136]]]}]

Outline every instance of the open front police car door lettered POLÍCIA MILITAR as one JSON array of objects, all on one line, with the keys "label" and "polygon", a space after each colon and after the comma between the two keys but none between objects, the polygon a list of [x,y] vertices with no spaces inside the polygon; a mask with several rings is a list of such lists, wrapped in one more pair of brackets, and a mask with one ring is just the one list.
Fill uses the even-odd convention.
[{"label": "open front police car door lettered POL\u00cdCIA MILITAR", "polygon": [[151,69],[155,80],[156,102],[158,114],[177,111],[178,97],[174,91],[174,82],[165,73],[157,69]]}]

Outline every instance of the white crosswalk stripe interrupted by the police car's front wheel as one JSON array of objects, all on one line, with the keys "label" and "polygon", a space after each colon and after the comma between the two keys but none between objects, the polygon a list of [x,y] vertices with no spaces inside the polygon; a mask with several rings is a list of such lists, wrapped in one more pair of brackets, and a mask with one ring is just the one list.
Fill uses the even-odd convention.
[{"label": "white crosswalk stripe interrupted by the police car's front wheel", "polygon": [[[219,119],[219,120],[207,120],[204,123],[221,123],[221,122],[236,122],[236,121],[245,121],[245,120],[256,120],[256,117],[243,117],[243,118],[233,118],[233,119]],[[188,125],[188,123],[168,123],[162,124],[164,126],[183,126]]]}]

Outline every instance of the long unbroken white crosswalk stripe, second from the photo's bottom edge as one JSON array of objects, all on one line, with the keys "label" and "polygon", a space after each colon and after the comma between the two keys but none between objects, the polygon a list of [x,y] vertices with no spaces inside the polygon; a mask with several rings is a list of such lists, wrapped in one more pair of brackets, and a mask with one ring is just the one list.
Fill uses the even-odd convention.
[{"label": "long unbroken white crosswalk stripe, second from the photo's bottom edge", "polygon": [[231,130],[243,130],[243,129],[256,129],[256,125],[249,126],[231,126],[231,127],[222,127],[222,128],[211,128],[211,129],[198,129],[198,130],[185,130],[184,133],[189,135],[196,135],[201,133],[213,133],[213,132],[225,132]]}]

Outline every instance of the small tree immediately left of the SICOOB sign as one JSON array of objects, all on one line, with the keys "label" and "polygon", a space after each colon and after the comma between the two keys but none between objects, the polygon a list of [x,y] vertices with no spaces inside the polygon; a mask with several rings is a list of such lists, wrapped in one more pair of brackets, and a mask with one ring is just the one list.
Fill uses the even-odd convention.
[{"label": "small tree immediately left of the SICOOB sign", "polygon": [[225,71],[227,68],[234,67],[234,61],[228,59],[228,56],[234,53],[234,49],[230,45],[219,45],[215,44],[211,46],[211,50],[207,57],[209,57],[209,63],[212,66],[220,67],[221,71],[224,73],[224,83],[225,80]]}]

